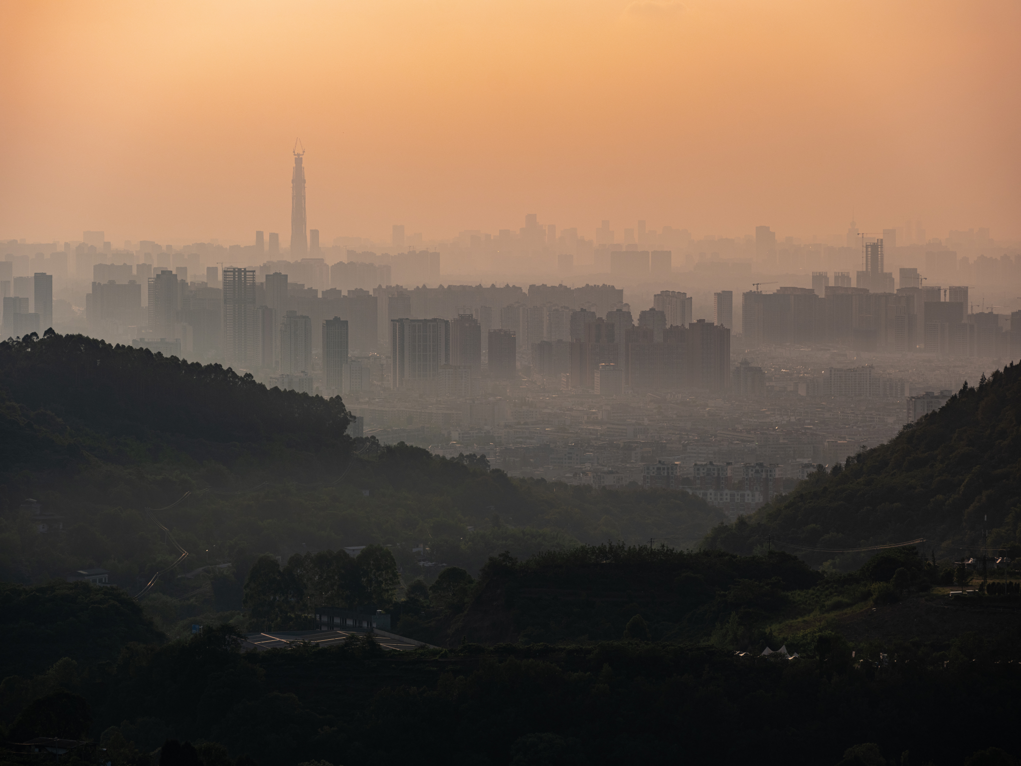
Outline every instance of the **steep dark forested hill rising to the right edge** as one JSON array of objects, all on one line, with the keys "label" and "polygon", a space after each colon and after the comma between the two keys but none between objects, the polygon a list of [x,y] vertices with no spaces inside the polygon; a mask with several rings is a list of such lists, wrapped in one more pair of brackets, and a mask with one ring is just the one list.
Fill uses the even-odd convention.
[{"label": "steep dark forested hill rising to the right edge", "polygon": [[[967,383],[942,409],[891,441],[818,472],[796,490],[706,539],[750,554],[778,542],[820,565],[856,568],[860,556],[803,552],[783,542],[847,548],[925,537],[923,548],[950,560],[969,546],[1009,547],[1021,524],[1021,367],[1010,365],[977,387]],[[988,530],[983,543],[984,530]],[[977,553],[977,550],[976,550]]]}]

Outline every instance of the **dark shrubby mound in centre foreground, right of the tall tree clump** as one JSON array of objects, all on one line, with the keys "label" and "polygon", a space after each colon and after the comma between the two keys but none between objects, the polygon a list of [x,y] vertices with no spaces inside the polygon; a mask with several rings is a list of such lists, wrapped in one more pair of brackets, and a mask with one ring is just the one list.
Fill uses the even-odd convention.
[{"label": "dark shrubby mound in centre foreground, right of the tall tree clump", "polygon": [[[933,587],[954,581],[953,569],[924,560],[914,546],[880,552],[856,572],[824,575],[777,550],[743,557],[603,544],[527,561],[502,554],[478,580],[450,568],[428,588],[412,583],[393,612],[402,634],[451,648],[614,640],[637,617],[651,640],[758,653],[784,642],[804,649],[831,623],[853,621],[873,606],[929,599]],[[900,628],[894,633],[915,637]]]}]

